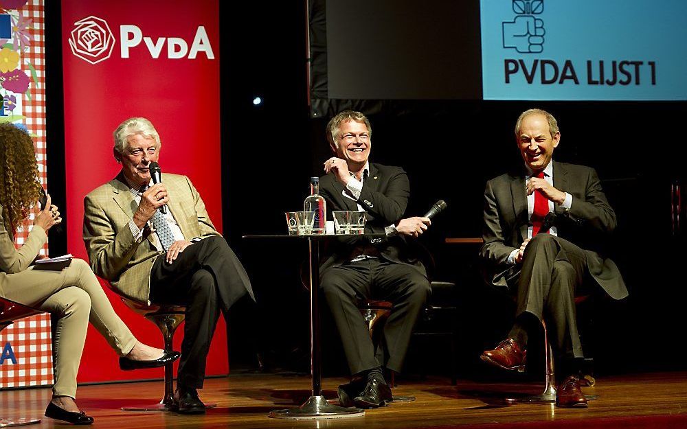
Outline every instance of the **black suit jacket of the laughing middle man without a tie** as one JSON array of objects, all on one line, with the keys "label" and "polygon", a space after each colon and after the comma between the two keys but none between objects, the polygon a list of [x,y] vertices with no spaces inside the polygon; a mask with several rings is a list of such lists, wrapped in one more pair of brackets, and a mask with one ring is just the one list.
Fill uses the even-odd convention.
[{"label": "black suit jacket of the laughing middle man without a tie", "polygon": [[[333,219],[333,211],[357,210],[359,203],[365,210],[366,233],[384,233],[385,227],[401,220],[410,196],[410,183],[403,168],[375,163],[370,163],[370,175],[363,181],[363,189],[358,200],[344,196],[345,189],[331,174],[319,178],[319,193],[327,201],[327,219]],[[324,250],[321,272],[348,261],[357,246],[372,245],[384,259],[396,264],[412,265],[420,273],[427,275],[425,266],[418,259],[418,249],[407,242],[403,235],[374,241],[370,243],[370,240],[364,237],[339,237],[330,241]]]}]

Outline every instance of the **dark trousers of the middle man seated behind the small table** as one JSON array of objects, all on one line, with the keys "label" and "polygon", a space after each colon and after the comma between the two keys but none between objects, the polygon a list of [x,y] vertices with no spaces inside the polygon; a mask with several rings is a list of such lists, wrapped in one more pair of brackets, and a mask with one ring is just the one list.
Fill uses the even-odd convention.
[{"label": "dark trousers of the middle man seated behind the small table", "polygon": [[[369,258],[327,268],[320,277],[320,287],[339,329],[350,372],[381,366],[400,372],[413,327],[430,291],[427,277],[409,265]],[[379,348],[375,348],[358,309],[358,303],[366,299],[394,305]]]}]

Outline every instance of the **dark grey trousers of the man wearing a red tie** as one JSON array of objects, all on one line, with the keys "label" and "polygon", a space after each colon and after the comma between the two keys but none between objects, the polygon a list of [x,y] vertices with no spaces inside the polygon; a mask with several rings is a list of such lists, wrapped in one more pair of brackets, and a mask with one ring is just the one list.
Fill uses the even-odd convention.
[{"label": "dark grey trousers of the man wearing a red tie", "polygon": [[544,318],[556,354],[583,358],[575,297],[588,294],[592,282],[596,283],[581,248],[555,235],[535,235],[523,255],[516,316],[529,312],[539,321]]}]

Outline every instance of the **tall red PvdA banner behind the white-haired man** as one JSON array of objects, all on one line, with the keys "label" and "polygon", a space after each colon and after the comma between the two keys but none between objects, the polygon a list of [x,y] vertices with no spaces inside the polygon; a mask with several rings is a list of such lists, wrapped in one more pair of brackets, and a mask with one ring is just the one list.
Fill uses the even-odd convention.
[{"label": "tall red PvdA banner behind the white-haired man", "polygon": [[[83,198],[120,170],[112,132],[133,116],[153,122],[162,141],[162,171],[191,178],[221,231],[218,2],[63,0],[62,27],[68,251],[87,259]],[[107,293],[135,336],[161,347],[157,328]],[[116,358],[89,327],[79,382],[163,375],[162,369],[122,372]],[[227,372],[221,322],[207,375]]]}]

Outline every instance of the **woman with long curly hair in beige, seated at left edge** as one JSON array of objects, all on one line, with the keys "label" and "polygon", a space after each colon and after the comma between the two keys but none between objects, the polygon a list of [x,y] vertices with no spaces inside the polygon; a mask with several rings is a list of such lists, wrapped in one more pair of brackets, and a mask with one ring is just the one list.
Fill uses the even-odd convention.
[{"label": "woman with long curly hair in beige, seated at left edge", "polygon": [[[73,259],[62,270],[34,270],[33,262],[47,241],[47,231],[62,222],[58,208],[43,188],[31,137],[12,124],[0,124],[0,297],[52,315],[55,384],[45,416],[73,424],[92,424],[93,417],[80,411],[76,373],[89,321],[121,357],[122,369],[164,366],[179,358],[140,343],[115,314],[91,268]],[[33,227],[17,250],[14,233],[33,211]]]}]

